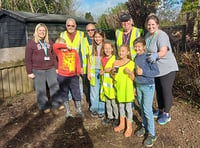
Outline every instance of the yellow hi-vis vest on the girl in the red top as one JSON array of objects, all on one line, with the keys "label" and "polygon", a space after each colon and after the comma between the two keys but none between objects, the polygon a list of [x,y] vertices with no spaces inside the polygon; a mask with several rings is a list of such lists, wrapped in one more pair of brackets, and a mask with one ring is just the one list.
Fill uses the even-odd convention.
[{"label": "yellow hi-vis vest on the girl in the red top", "polygon": [[[115,56],[113,55],[105,65],[105,68],[112,68],[115,62]],[[104,73],[102,77],[100,99],[105,102],[105,96],[109,99],[116,98],[116,91],[113,84],[113,79],[110,75],[111,73]]]}]

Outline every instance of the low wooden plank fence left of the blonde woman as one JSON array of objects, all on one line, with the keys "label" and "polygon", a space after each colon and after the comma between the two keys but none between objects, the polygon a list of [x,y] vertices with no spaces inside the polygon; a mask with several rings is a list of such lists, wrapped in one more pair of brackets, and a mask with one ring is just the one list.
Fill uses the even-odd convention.
[{"label": "low wooden plank fence left of the blonde woman", "polygon": [[28,78],[24,62],[0,67],[0,99],[33,90],[33,80]]}]

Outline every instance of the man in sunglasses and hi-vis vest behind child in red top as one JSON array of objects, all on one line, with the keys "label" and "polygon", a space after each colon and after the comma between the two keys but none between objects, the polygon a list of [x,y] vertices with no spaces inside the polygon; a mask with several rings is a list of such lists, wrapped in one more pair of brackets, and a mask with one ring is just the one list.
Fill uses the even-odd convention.
[{"label": "man in sunglasses and hi-vis vest behind child in red top", "polygon": [[[76,30],[76,21],[73,18],[66,20],[66,31],[60,33],[60,37],[66,41],[67,48],[75,49],[80,57],[81,61],[81,74],[83,74],[83,59],[81,54],[81,42],[84,37],[84,32]],[[81,98],[83,98],[83,81],[79,79]],[[71,93],[69,93],[69,99],[71,99]]]}]

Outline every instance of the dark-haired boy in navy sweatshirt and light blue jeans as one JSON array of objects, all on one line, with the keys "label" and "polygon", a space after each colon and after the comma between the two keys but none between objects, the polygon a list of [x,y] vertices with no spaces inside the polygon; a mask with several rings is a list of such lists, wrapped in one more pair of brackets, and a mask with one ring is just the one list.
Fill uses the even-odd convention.
[{"label": "dark-haired boy in navy sweatshirt and light blue jeans", "polygon": [[155,91],[154,77],[159,74],[156,63],[147,61],[148,55],[145,52],[146,43],[144,38],[139,37],[134,41],[135,57],[135,83],[137,90],[137,100],[141,110],[142,128],[136,131],[136,136],[142,137],[145,130],[148,137],[144,140],[146,147],[153,146],[156,140],[152,103]]}]

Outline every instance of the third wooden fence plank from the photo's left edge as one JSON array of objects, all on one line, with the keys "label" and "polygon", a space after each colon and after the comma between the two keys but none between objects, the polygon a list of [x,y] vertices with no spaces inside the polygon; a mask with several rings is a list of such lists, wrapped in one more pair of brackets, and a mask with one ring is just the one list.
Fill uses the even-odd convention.
[{"label": "third wooden fence plank from the photo's left edge", "polygon": [[22,93],[22,73],[21,73],[21,67],[15,68],[15,79],[16,79],[16,91],[17,94]]}]

